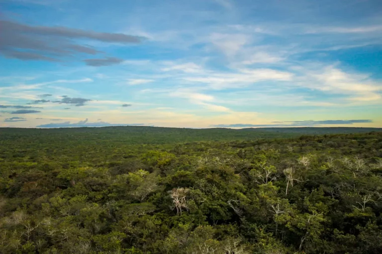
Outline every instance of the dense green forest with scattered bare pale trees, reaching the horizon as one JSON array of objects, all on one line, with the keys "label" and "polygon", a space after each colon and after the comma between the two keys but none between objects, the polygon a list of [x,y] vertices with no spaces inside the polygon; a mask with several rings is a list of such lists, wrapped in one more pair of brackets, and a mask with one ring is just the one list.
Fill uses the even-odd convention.
[{"label": "dense green forest with scattered bare pale trees, reaching the horizon", "polygon": [[1,254],[380,254],[381,212],[380,129],[0,128]]}]

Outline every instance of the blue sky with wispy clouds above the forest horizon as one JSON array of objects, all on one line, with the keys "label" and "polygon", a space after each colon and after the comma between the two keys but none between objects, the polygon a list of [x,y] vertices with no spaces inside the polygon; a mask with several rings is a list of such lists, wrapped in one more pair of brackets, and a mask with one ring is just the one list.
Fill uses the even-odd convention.
[{"label": "blue sky with wispy clouds above the forest horizon", "polygon": [[381,0],[0,0],[0,127],[382,127]]}]

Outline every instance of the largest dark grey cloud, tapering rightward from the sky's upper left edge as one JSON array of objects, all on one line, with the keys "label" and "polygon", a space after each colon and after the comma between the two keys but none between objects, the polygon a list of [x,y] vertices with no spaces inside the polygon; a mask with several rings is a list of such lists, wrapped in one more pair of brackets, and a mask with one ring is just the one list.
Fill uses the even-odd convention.
[{"label": "largest dark grey cloud, tapering rightward from the sky's upper left edge", "polygon": [[8,20],[0,20],[0,27],[0,53],[7,58],[24,61],[59,62],[73,57],[74,54],[100,53],[88,45],[75,42],[78,39],[121,44],[141,43],[145,40],[144,37],[121,33],[103,33],[59,26],[30,26]]}]

